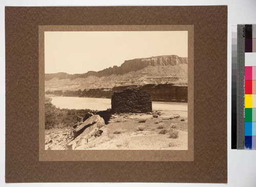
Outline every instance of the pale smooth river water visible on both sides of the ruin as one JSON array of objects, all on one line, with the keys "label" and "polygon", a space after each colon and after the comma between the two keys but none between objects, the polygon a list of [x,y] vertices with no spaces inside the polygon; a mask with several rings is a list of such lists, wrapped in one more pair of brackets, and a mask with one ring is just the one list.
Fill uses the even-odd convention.
[{"label": "pale smooth river water visible on both sides of the ruin", "polygon": [[[111,108],[111,99],[87,97],[51,97],[52,104],[60,109],[90,109],[103,111]],[[154,111],[179,114],[187,117],[187,103],[184,102],[152,102]]]}]

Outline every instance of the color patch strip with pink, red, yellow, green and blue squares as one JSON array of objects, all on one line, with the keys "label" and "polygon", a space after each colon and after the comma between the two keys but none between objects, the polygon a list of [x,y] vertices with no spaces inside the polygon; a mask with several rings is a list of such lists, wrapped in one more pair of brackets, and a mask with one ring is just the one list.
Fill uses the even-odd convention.
[{"label": "color patch strip with pink, red, yellow, green and blue squares", "polygon": [[245,25],[245,149],[256,149],[256,25]]}]

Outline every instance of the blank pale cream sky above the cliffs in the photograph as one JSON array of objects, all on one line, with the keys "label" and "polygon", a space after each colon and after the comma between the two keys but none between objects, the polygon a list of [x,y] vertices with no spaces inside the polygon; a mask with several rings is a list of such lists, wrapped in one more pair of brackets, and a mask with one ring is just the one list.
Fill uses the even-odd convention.
[{"label": "blank pale cream sky above the cliffs in the photograph", "polygon": [[45,32],[45,73],[99,71],[125,60],[187,57],[187,31]]}]

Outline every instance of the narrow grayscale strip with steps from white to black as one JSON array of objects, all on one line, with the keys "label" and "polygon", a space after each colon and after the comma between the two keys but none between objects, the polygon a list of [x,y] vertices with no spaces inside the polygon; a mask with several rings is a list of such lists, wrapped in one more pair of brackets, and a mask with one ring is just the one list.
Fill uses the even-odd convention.
[{"label": "narrow grayscale strip with steps from white to black", "polygon": [[231,149],[237,149],[237,30],[237,26],[232,26]]}]

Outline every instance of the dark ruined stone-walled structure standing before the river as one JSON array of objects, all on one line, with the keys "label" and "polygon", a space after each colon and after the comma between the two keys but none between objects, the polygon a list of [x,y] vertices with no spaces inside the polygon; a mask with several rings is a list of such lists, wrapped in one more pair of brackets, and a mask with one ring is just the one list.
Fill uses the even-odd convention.
[{"label": "dark ruined stone-walled structure standing before the river", "polygon": [[123,92],[114,92],[111,106],[115,113],[148,113],[152,112],[152,99],[144,90],[125,89]]}]

